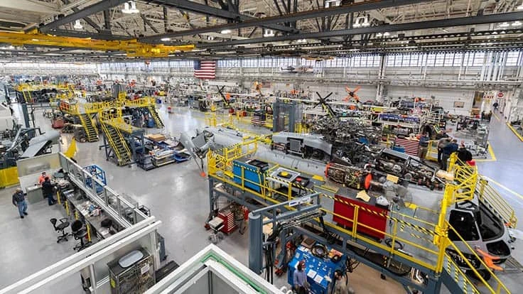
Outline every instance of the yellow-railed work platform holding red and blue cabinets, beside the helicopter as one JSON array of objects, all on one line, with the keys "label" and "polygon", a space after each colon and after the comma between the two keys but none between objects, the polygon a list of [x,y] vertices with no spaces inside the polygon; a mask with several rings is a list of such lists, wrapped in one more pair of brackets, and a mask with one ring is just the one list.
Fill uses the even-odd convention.
[{"label": "yellow-railed work platform holding red and blue cabinets, beside the helicopter", "polygon": [[[460,256],[460,261],[467,263],[465,266],[473,268],[464,254],[475,254],[475,250],[463,239],[460,242],[448,238],[448,232],[455,231],[441,213],[456,202],[472,199],[475,192],[508,227],[516,225],[514,211],[477,175],[477,171],[467,173],[458,167],[460,172],[456,173],[455,182],[448,183],[440,192],[411,185],[409,190],[417,200],[378,209],[372,201],[356,201],[357,190],[340,187],[313,173],[257,158],[256,139],[209,153],[211,214],[218,208],[219,197],[226,197],[252,211],[318,193],[318,202],[325,213],[323,220],[312,219],[293,229],[393,278],[404,285],[407,293],[414,289],[439,293],[442,283],[451,293],[510,293],[497,276],[492,276],[489,282],[482,277],[478,281],[472,280],[470,276],[480,276],[480,273],[475,269],[464,273],[463,264],[460,268],[446,251],[453,250]],[[369,194],[372,196],[372,191]],[[423,203],[424,207],[414,203]],[[286,210],[294,209],[286,206]],[[468,246],[467,253],[462,252],[463,246]],[[379,256],[381,258],[376,258]],[[483,258],[476,257],[484,268],[489,268]],[[413,276],[424,278],[413,279]]]}]

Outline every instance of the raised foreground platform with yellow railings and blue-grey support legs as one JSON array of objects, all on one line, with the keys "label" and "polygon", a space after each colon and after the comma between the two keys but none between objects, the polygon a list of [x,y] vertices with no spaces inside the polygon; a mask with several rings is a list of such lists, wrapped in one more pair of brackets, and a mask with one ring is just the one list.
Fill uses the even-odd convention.
[{"label": "raised foreground platform with yellow railings and blue-grey support legs", "polygon": [[[480,291],[481,293],[485,291],[511,293],[500,278],[494,275],[494,269],[499,267],[496,266],[496,261],[492,263],[492,256],[488,256],[485,251],[478,250],[477,247],[471,248],[476,245],[468,245],[468,242],[463,241],[462,238],[455,239],[455,235],[459,234],[446,217],[449,207],[478,197],[495,212],[507,228],[516,226],[514,210],[478,175],[476,168],[454,165],[455,178],[453,182],[446,185],[439,212],[419,207],[417,211],[420,213],[409,214],[408,210],[411,208],[407,207],[406,209],[393,208],[385,214],[369,211],[365,205],[347,202],[345,198],[339,197],[326,187],[320,185],[309,187],[301,181],[298,183],[285,180],[279,177],[279,170],[284,170],[289,175],[298,173],[301,178],[308,177],[309,180],[314,178],[313,174],[302,173],[301,170],[276,163],[257,167],[257,163],[254,163],[260,161],[257,160],[257,154],[263,156],[264,153],[263,151],[257,153],[257,142],[257,139],[244,141],[207,153],[211,216],[219,208],[217,207],[219,197],[226,197],[227,200],[237,202],[250,211],[257,210],[260,206],[278,205],[281,212],[285,213],[293,212],[296,208],[281,204],[297,201],[304,195],[319,194],[321,200],[318,200],[318,203],[321,203],[320,210],[325,215],[322,219],[308,219],[307,222],[292,227],[293,234],[279,234],[283,236],[283,239],[280,239],[282,251],[287,250],[286,242],[291,238],[289,236],[303,234],[393,278],[404,285],[407,293],[415,293],[414,290],[439,293],[442,284],[446,285],[451,293],[480,293]],[[250,162],[252,165],[245,164]],[[301,192],[297,193],[297,191]],[[419,190],[419,192],[423,191]],[[317,202],[313,202],[311,205],[316,204]],[[340,215],[334,212],[333,205],[352,207],[353,213]],[[372,217],[372,215],[383,218],[387,229],[369,227],[363,222],[362,217]],[[425,218],[428,215],[431,217]],[[339,219],[350,223],[351,226],[344,227]],[[259,229],[262,226],[262,219],[253,219],[252,224],[250,222],[249,218],[249,227],[252,229]],[[269,222],[272,221],[264,220],[263,224]],[[362,231],[365,230],[374,232],[372,235],[385,236],[389,239],[389,243],[384,244],[382,240],[363,234]],[[260,238],[262,236],[251,236],[249,244],[259,246]],[[399,246],[400,243],[403,245]],[[372,258],[371,255],[381,257]],[[279,256],[286,256],[286,254]],[[474,256],[472,258],[474,261],[471,261],[470,256]],[[263,262],[259,258],[261,257],[256,250],[249,253],[249,266],[257,273],[262,271]],[[288,262],[286,259],[279,260],[279,265],[286,262]],[[481,266],[476,268],[472,262],[480,263]],[[414,273],[414,276],[422,276],[423,281],[401,276],[405,273],[403,270],[406,273]],[[475,276],[478,281],[471,281],[471,276]],[[488,282],[487,276],[492,276]]]}]

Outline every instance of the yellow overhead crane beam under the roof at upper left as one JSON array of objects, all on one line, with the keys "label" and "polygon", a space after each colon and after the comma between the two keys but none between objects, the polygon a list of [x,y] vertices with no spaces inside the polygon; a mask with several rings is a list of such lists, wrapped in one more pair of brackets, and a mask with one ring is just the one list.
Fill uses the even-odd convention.
[{"label": "yellow overhead crane beam under the roof at upper left", "polygon": [[131,40],[95,40],[91,38],[74,38],[52,36],[43,33],[0,32],[0,43],[21,45],[41,45],[55,48],[78,48],[100,51],[123,51],[128,57],[165,58],[171,53],[190,51],[194,45],[154,45]]}]

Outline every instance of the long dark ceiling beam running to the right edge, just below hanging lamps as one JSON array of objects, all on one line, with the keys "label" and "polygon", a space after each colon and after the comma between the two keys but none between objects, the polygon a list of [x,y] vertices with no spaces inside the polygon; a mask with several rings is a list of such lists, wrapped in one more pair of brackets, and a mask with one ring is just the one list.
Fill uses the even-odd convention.
[{"label": "long dark ceiling beam running to the right edge, just below hanging lamps", "polygon": [[219,43],[205,43],[198,45],[198,48],[212,48],[212,47],[223,47],[230,45],[245,45],[253,43],[271,43],[280,42],[285,40],[298,40],[298,39],[317,39],[317,38],[332,38],[340,36],[353,36],[362,34],[372,33],[385,33],[385,32],[397,32],[397,31],[414,31],[422,30],[426,28],[444,28],[451,26],[471,26],[485,23],[502,23],[510,21],[519,21],[523,19],[523,12],[510,12],[510,13],[497,13],[487,14],[482,16],[468,16],[459,18],[446,18],[437,19],[433,21],[417,21],[414,23],[397,23],[392,25],[382,26],[370,26],[367,28],[350,28],[336,31],[324,31],[318,33],[301,33],[300,35],[289,35],[289,36],[274,36],[270,38],[256,38],[249,40],[230,40],[227,42]]}]

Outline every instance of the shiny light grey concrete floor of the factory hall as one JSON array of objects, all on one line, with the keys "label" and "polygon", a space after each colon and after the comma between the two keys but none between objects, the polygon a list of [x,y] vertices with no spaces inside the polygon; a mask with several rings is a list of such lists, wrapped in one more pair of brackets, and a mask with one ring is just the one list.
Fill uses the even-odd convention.
[{"label": "shiny light grey concrete floor of the factory hall", "polygon": [[[188,109],[176,109],[175,114],[168,114],[163,107],[159,112],[166,124],[166,131],[173,136],[205,125],[203,114],[198,111],[191,113]],[[43,118],[40,111],[35,116],[43,130],[50,129],[50,121]],[[509,190],[521,192],[523,184],[517,177],[522,175],[523,170],[523,143],[502,121],[492,119],[491,127],[490,142],[497,161],[479,163],[480,172]],[[63,143],[68,144],[68,141],[69,137],[64,136]],[[151,209],[151,213],[163,222],[159,231],[166,239],[168,259],[183,263],[208,244],[209,232],[203,227],[209,212],[207,180],[199,175],[194,161],[166,165],[150,171],[118,167],[105,160],[104,152],[98,148],[100,144],[78,144],[79,151],[75,159],[80,165],[96,163],[101,166],[106,172],[109,187]],[[0,288],[69,256],[74,246],[72,241],[59,245],[55,242],[55,232],[48,219],[63,215],[60,207],[48,207],[45,202],[30,205],[30,215],[26,219],[19,219],[15,207],[10,204],[12,190],[0,191]],[[500,188],[502,195],[517,210],[519,219],[522,219],[523,197],[509,190]],[[247,264],[247,235],[231,234],[220,241],[218,246]],[[523,246],[518,246],[514,253],[519,261],[523,261]],[[387,293],[404,293],[401,285],[380,280],[379,273],[363,265],[351,274],[350,282],[357,293],[379,293],[384,288],[387,288]],[[60,288],[57,293],[77,293],[74,283],[70,283],[68,281],[69,286],[65,288],[75,290],[63,292],[65,288]],[[276,283],[283,285],[285,281],[277,279]],[[513,293],[523,289],[519,284],[509,285],[509,288]]]}]

